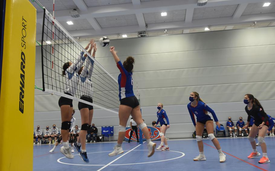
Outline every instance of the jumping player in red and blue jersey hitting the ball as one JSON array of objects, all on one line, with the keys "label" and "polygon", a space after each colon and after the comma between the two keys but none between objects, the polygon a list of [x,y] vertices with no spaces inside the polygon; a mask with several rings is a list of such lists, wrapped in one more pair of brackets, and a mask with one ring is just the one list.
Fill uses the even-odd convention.
[{"label": "jumping player in red and blue jersey hitting the ball", "polygon": [[148,147],[148,157],[151,157],[155,152],[156,143],[153,143],[150,139],[149,131],[141,118],[141,110],[139,107],[139,102],[134,95],[133,91],[133,68],[134,68],[134,58],[129,56],[126,61],[121,63],[120,59],[118,58],[115,47],[110,47],[110,52],[112,53],[115,63],[120,71],[118,76],[118,85],[119,85],[119,110],[118,110],[118,117],[119,117],[119,126],[118,126],[118,144],[115,145],[114,151],[109,153],[109,156],[115,156],[118,154],[123,153],[122,150],[122,142],[125,137],[126,132],[126,124],[130,114],[132,115],[134,121],[138,124],[139,128],[144,133],[144,136],[147,141]]}]

